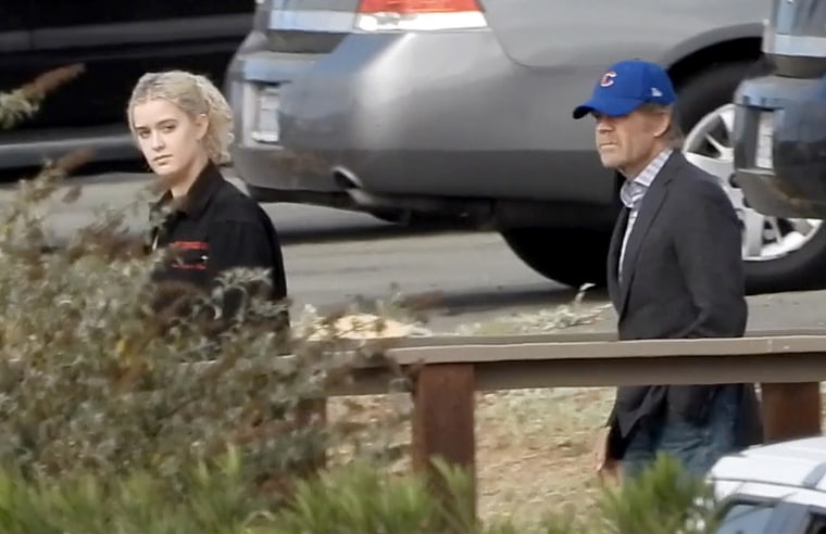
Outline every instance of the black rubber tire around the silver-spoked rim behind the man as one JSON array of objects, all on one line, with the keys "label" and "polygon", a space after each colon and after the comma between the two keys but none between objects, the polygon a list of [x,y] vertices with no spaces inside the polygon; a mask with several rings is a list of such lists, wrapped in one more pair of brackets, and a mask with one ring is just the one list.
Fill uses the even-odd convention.
[{"label": "black rubber tire around the silver-spoked rim behind the man", "polygon": [[[721,106],[730,104],[740,81],[762,74],[765,68],[767,67],[764,63],[754,61],[724,63],[712,66],[678,85],[677,111],[683,130],[690,132],[703,117]],[[686,148],[688,149],[688,139]],[[747,293],[777,293],[826,287],[826,230],[824,227],[826,225],[813,230],[802,246],[790,250],[781,256],[763,259],[744,257]]]}]

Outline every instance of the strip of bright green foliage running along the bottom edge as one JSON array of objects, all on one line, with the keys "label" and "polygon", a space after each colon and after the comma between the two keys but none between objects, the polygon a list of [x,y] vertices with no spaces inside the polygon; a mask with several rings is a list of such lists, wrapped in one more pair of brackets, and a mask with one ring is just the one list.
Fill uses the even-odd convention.
[{"label": "strip of bright green foliage running along the bottom edge", "polygon": [[[417,475],[389,475],[353,462],[297,484],[286,506],[255,498],[240,455],[187,472],[179,492],[147,474],[114,484],[75,475],[49,483],[0,475],[4,534],[705,534],[714,532],[708,487],[685,483],[662,461],[622,491],[608,491],[590,518],[549,517],[536,525],[481,525],[445,506]],[[467,478],[437,462],[451,495],[471,497]]]}]

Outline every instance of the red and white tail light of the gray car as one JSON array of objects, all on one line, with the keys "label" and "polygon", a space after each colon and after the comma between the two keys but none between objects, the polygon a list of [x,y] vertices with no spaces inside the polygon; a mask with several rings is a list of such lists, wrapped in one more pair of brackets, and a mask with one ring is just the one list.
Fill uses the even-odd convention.
[{"label": "red and white tail light of the gray car", "polygon": [[439,31],[487,27],[478,0],[361,0],[362,31]]}]

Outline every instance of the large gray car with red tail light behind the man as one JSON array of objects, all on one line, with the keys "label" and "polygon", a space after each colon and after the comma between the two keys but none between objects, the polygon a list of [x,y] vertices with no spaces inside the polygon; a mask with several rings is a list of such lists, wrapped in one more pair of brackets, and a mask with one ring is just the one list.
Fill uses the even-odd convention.
[{"label": "large gray car with red tail light behind the man", "polygon": [[572,110],[612,63],[671,74],[685,153],[743,220],[750,292],[826,281],[826,232],[743,205],[731,96],[767,0],[262,0],[227,78],[236,171],[261,201],[501,232],[565,284],[603,282],[620,180]]}]

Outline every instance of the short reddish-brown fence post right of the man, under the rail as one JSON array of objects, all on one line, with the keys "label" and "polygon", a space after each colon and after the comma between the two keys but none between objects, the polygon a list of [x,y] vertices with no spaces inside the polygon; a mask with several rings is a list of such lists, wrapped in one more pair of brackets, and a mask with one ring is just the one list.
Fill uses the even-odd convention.
[{"label": "short reddish-brown fence post right of the man, under the rail", "polygon": [[766,443],[821,434],[821,383],[760,384]]}]

